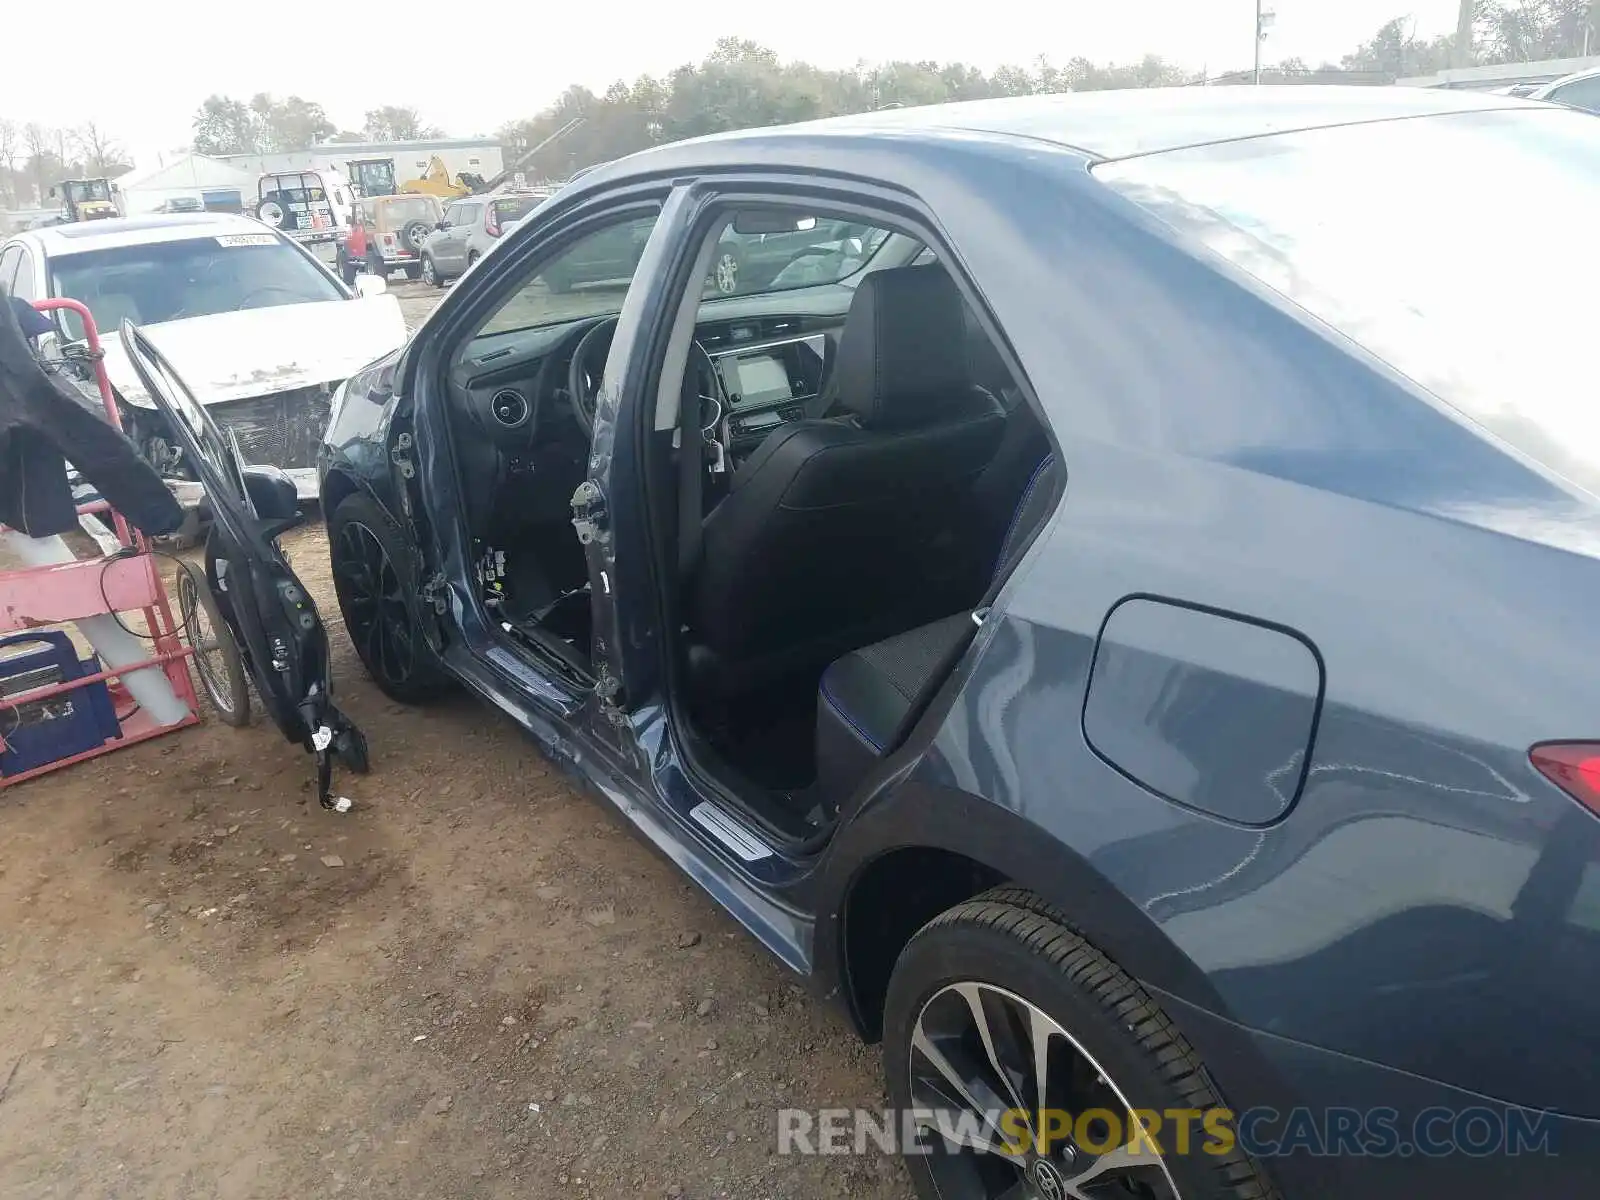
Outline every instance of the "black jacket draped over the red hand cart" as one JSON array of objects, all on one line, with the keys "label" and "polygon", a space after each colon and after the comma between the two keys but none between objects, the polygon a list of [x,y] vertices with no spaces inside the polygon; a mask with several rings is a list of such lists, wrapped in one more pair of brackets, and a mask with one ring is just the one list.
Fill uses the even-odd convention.
[{"label": "black jacket draped over the red hand cart", "polygon": [[34,357],[16,312],[0,304],[0,525],[32,538],[77,528],[67,461],[144,533],[170,533],[182,507],[134,445],[83,406]]}]

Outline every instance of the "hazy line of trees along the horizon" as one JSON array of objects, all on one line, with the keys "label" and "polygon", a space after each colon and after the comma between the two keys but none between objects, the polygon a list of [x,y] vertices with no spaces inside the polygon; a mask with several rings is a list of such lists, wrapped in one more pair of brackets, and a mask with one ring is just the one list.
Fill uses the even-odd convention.
[{"label": "hazy line of trees along the horizon", "polygon": [[[1410,18],[1395,18],[1338,62],[1312,66],[1283,59],[1262,77],[1274,83],[1339,78],[1382,83],[1448,66],[1600,53],[1600,0],[1475,0],[1469,29],[1470,45],[1458,46],[1454,32],[1419,38]],[[533,174],[560,178],[648,146],[723,130],[989,96],[1250,80],[1248,70],[1205,78],[1157,54],[1107,66],[1085,58],[1058,66],[1040,56],[1029,66],[992,72],[962,62],[909,61],[827,70],[784,62],[754,42],[720,38],[706,59],[662,77],[618,80],[600,94],[573,85],[542,112],[502,125],[498,136],[510,158],[582,117],[581,125],[528,165]],[[200,154],[269,154],[320,142],[437,136],[440,130],[410,106],[370,109],[360,130],[341,130],[317,101],[267,93],[250,99],[208,96],[194,115],[194,149]],[[126,170],[126,157],[123,146],[94,123],[56,130],[0,118],[0,202],[16,208],[42,203],[59,179],[114,176]]]}]

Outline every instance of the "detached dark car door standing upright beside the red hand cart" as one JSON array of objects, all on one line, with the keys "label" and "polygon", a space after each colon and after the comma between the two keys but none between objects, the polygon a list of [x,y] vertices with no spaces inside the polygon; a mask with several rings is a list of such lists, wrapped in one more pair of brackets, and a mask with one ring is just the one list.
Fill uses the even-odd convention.
[{"label": "detached dark car door standing upright beside the red hand cart", "polygon": [[317,757],[323,808],[344,811],[349,802],[331,794],[333,757],[365,771],[366,741],[333,702],[328,632],[277,546],[301,522],[294,483],[277,467],[246,467],[232,437],[131,322],[122,323],[122,344],[205,485],[213,514],[206,582],[245,670],[283,736]]}]

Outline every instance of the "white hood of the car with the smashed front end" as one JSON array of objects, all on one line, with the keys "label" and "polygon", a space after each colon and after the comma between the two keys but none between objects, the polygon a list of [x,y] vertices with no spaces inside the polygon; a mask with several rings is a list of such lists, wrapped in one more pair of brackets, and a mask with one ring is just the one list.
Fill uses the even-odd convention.
[{"label": "white hood of the car with the smashed front end", "polygon": [[[218,312],[139,328],[203,405],[347,379],[406,338],[400,302],[387,294]],[[107,336],[104,347],[106,374],[117,394],[138,408],[155,408],[122,339]]]}]

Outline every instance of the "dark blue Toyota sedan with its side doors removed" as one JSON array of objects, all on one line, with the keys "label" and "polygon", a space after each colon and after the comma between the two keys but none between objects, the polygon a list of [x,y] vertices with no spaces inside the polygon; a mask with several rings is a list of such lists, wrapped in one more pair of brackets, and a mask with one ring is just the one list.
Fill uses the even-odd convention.
[{"label": "dark blue Toyota sedan with its side doors removed", "polygon": [[1594,117],[1419,88],[621,158],[341,390],[339,608],[882,1040],[925,1200],[1590,1195],[1592,320],[1526,296],[1597,203]]}]

